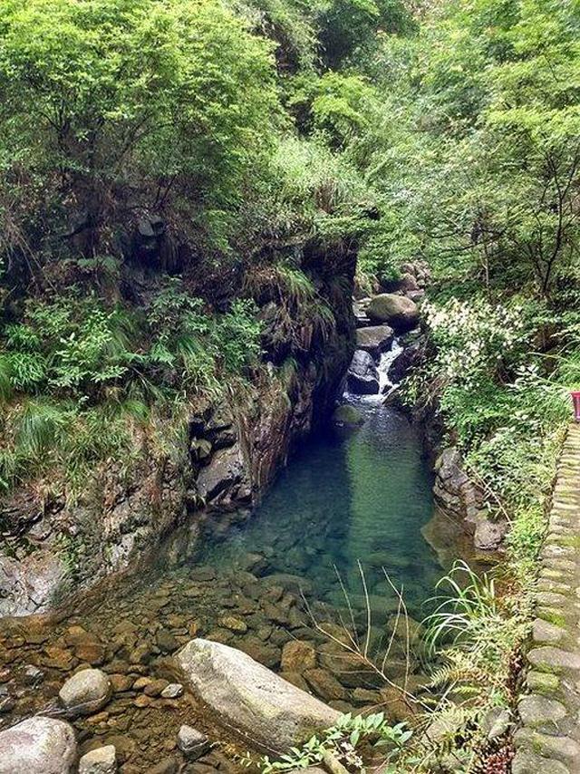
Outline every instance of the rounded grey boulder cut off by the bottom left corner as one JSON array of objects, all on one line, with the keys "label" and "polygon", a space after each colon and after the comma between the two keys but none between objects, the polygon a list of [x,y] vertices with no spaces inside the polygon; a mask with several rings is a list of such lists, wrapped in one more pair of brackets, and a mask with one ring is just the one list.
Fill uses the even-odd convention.
[{"label": "rounded grey boulder cut off by the bottom left corner", "polygon": [[0,732],[0,774],[71,774],[77,758],[68,723],[37,715]]}]

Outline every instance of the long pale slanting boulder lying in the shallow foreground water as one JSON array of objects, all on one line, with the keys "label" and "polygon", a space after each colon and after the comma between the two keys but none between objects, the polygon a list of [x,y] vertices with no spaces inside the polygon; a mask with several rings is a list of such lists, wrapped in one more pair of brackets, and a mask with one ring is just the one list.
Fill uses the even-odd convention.
[{"label": "long pale slanting boulder lying in the shallow foreground water", "polygon": [[196,639],[176,658],[199,699],[266,750],[288,750],[338,719],[337,711],[235,648]]}]

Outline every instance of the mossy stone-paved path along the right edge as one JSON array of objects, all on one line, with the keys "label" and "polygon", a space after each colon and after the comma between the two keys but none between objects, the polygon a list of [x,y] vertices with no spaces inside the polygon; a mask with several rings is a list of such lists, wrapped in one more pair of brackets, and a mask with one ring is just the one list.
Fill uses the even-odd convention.
[{"label": "mossy stone-paved path along the right edge", "polygon": [[580,774],[580,425],[570,426],[536,591],[513,774]]}]

